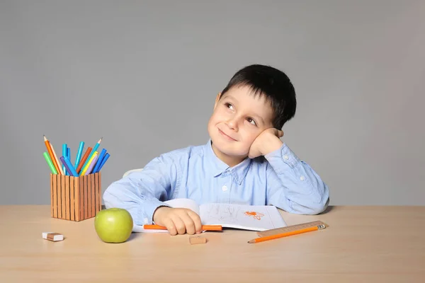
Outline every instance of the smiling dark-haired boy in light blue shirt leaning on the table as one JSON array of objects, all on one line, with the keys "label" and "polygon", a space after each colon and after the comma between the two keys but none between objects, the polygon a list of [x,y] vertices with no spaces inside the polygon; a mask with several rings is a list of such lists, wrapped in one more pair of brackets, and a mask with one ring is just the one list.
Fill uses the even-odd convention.
[{"label": "smiling dark-haired boy in light blue shirt leaning on the table", "polygon": [[176,198],[324,211],[327,185],[280,140],[295,108],[295,90],[282,71],[263,65],[239,70],[215,99],[208,143],[162,154],[112,183],[103,195],[106,208],[127,209],[135,224],[154,221],[171,235],[201,231],[198,214],[164,203]]}]

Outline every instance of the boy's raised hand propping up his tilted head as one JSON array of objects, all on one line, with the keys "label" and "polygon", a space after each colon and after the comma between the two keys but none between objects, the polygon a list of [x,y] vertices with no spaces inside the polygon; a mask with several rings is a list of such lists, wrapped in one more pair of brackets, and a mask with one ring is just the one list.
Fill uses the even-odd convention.
[{"label": "boy's raised hand propping up his tilted head", "polygon": [[282,146],[280,140],[283,137],[283,132],[280,129],[268,128],[259,134],[249,148],[248,157],[256,158],[257,156],[269,154]]}]

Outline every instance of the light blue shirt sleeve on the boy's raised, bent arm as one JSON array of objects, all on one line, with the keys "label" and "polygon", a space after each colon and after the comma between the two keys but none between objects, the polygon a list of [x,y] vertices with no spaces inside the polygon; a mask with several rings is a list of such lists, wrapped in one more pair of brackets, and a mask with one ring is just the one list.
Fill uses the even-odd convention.
[{"label": "light blue shirt sleeve on the boy's raised, bent arm", "polygon": [[296,214],[319,214],[329,204],[329,188],[316,172],[283,144],[268,161],[266,204]]}]

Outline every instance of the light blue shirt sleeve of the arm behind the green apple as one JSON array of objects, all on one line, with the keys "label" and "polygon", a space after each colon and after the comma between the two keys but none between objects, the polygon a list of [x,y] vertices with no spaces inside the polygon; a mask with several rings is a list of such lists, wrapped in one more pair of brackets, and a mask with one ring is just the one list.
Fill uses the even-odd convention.
[{"label": "light blue shirt sleeve of the arm behind the green apple", "polygon": [[178,170],[169,156],[159,156],[140,172],[115,181],[103,194],[106,208],[119,207],[130,212],[136,225],[152,224],[154,211],[168,206],[172,188],[176,187]]}]

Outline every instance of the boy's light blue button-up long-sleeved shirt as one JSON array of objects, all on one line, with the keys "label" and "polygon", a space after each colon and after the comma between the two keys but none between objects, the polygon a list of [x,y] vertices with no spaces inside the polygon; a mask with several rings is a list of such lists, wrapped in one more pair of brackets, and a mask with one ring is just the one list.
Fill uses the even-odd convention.
[{"label": "boy's light blue button-up long-sleeved shirt", "polygon": [[106,208],[127,209],[137,225],[152,224],[155,209],[176,198],[198,204],[271,204],[290,213],[318,214],[329,203],[329,189],[286,144],[230,168],[217,158],[208,141],[154,158],[142,171],[112,183],[103,194]]}]

